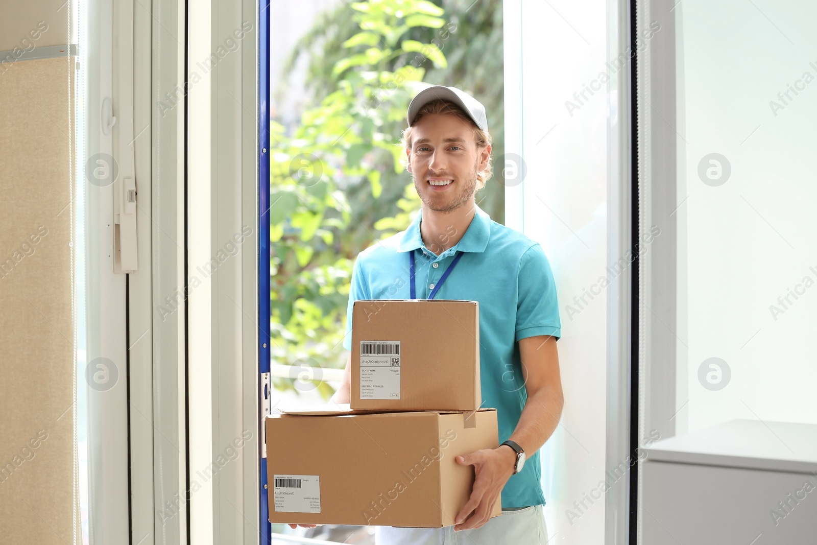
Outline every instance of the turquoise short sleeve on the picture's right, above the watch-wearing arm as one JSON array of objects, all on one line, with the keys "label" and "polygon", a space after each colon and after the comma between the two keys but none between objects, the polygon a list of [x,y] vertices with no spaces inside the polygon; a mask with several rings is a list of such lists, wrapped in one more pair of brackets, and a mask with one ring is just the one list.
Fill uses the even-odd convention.
[{"label": "turquoise short sleeve on the picture's right, above the watch-wearing arm", "polygon": [[537,335],[561,337],[556,283],[540,244],[534,244],[522,254],[517,286],[516,341]]}]

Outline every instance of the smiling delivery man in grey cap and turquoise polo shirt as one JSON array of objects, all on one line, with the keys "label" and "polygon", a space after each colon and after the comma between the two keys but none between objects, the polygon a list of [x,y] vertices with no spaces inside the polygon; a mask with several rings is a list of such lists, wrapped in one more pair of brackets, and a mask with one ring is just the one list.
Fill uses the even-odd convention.
[{"label": "smiling delivery man in grey cap and turquoise polo shirt", "polygon": [[[483,406],[497,409],[502,444],[457,458],[475,469],[471,498],[455,517],[458,524],[442,529],[379,526],[377,543],[544,544],[537,451],[556,429],[564,404],[551,268],[538,243],[492,221],[476,206],[475,192],[491,176],[484,106],[455,87],[429,87],[414,97],[407,120],[406,167],[422,209],[407,230],[360,252],[344,346],[351,349],[355,300],[411,297],[413,257],[415,297],[480,303]],[[333,398],[338,403],[349,402],[350,378],[347,364]],[[502,502],[502,516],[489,519],[495,501]]]}]

